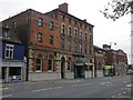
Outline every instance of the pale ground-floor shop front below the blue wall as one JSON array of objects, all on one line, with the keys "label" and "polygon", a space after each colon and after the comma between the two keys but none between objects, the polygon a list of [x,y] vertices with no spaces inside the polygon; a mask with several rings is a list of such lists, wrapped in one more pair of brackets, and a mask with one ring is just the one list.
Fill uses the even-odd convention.
[{"label": "pale ground-floor shop front below the blue wall", "polygon": [[3,61],[1,79],[3,82],[19,82],[25,80],[25,67],[21,61]]}]

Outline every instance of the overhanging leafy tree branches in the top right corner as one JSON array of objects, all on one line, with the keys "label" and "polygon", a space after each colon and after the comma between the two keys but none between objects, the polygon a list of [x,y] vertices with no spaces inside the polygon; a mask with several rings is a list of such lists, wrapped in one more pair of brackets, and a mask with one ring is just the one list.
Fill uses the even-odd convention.
[{"label": "overhanging leafy tree branches in the top right corner", "polygon": [[114,21],[129,12],[133,13],[133,0],[112,0],[101,11],[105,18]]}]

